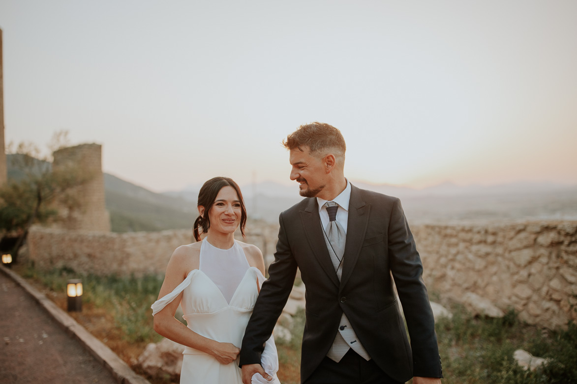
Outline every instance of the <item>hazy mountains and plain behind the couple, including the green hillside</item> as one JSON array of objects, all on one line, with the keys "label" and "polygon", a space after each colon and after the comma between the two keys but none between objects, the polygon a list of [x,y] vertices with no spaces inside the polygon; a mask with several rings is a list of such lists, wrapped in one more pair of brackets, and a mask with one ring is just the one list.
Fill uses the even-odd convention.
[{"label": "hazy mountains and plain behind the couple, including the green hillside", "polygon": [[[8,155],[10,157],[12,155]],[[9,178],[18,178],[8,162]],[[410,223],[445,223],[462,220],[565,219],[577,220],[577,185],[510,183],[460,187],[444,183],[412,189],[351,181],[359,188],[400,197]],[[200,186],[196,186],[200,189]],[[112,230],[159,231],[191,228],[197,216],[198,189],[155,193],[104,173],[106,208]],[[298,185],[263,181],[242,185],[250,218],[277,223],[279,213],[302,199]]]}]

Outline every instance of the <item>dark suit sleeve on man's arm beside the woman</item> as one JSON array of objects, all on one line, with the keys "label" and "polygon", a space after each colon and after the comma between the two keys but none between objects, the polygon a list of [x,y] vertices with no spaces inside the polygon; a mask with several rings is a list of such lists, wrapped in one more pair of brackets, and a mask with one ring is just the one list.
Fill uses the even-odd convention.
[{"label": "dark suit sleeve on man's arm beside the woman", "polygon": [[253,313],[246,326],[242,339],[239,366],[260,363],[264,343],[271,337],[284,305],[293,289],[297,274],[297,263],[294,260],[287,233],[284,227],[283,214],[279,216],[279,238],[276,242],[275,261],[269,266],[269,277],[263,283]]}]

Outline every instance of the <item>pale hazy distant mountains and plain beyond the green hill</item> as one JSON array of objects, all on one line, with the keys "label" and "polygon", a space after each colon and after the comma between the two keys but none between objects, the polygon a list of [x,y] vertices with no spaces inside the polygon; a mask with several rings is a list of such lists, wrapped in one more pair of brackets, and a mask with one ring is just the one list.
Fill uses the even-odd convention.
[{"label": "pale hazy distant mountains and plain beyond the green hill", "polygon": [[[443,183],[413,189],[388,184],[351,181],[359,188],[396,196],[413,223],[485,219],[570,219],[577,220],[577,185],[554,183],[509,183],[459,186]],[[287,186],[272,181],[243,185],[241,191],[252,217],[277,222],[279,213],[302,199],[295,182]],[[165,192],[196,203],[198,191]]]}]

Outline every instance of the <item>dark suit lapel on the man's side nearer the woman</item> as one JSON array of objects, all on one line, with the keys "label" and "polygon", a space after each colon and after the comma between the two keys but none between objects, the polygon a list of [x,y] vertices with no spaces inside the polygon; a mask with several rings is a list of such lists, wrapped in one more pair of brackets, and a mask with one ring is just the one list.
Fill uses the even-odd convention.
[{"label": "dark suit lapel on the man's side nearer the woman", "polygon": [[308,206],[306,206],[304,211],[300,211],[300,214],[302,227],[305,230],[306,239],[309,242],[310,248],[313,250],[314,257],[317,258],[317,261],[319,261],[319,264],[330,277],[331,281],[338,287],[339,278],[336,276],[335,267],[332,265],[331,256],[328,254],[327,244],[325,244],[324,241],[317,199],[314,197],[309,198]]}]

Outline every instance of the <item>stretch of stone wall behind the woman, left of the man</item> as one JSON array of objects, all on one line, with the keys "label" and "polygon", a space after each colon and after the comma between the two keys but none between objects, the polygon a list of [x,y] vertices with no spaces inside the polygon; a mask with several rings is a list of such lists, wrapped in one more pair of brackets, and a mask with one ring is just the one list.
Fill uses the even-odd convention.
[{"label": "stretch of stone wall behind the woman, left of the man", "polygon": [[[270,262],[277,233],[275,227],[251,220],[246,238],[240,231],[235,238],[258,246]],[[28,234],[27,257],[40,269],[68,267],[96,275],[164,275],[173,251],[191,242],[194,238],[190,229],[106,233],[33,226]]]}]

